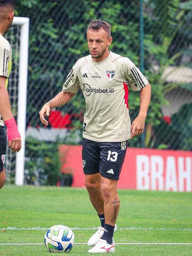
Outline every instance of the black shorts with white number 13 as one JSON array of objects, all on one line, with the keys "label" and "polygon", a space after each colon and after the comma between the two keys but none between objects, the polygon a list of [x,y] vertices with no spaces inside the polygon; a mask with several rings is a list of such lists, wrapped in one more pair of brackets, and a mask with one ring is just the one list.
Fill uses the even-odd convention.
[{"label": "black shorts with white number 13", "polygon": [[100,173],[102,177],[119,180],[128,140],[96,142],[83,138],[82,164],[84,174]]}]

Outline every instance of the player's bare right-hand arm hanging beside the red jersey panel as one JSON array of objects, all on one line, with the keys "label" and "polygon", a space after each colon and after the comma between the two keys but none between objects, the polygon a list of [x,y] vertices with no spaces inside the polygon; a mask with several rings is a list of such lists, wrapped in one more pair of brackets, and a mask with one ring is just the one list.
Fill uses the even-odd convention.
[{"label": "player's bare right-hand arm hanging beside the red jersey panel", "polygon": [[131,124],[131,136],[140,135],[143,133],[145,126],[145,118],[147,116],[148,106],[151,100],[151,85],[148,83],[144,88],[140,90],[140,112],[136,119]]}]

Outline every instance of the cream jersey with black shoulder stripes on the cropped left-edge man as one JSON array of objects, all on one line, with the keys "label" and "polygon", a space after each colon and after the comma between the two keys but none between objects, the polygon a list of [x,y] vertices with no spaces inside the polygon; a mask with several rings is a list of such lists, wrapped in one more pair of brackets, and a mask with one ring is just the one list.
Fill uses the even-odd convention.
[{"label": "cream jersey with black shoulder stripes on the cropped left-edge man", "polygon": [[[12,48],[9,42],[0,34],[0,76],[5,76],[6,87],[8,85],[8,77],[12,68]],[[0,125],[4,126],[3,119],[0,115]]]}]

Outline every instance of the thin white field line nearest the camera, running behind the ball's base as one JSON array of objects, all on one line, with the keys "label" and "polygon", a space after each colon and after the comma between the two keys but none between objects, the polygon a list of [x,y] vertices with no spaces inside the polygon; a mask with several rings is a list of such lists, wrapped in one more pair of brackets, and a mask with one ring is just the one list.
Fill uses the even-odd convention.
[{"label": "thin white field line nearest the camera, running behind the ball's base", "polygon": [[[87,243],[75,243],[75,244],[87,244]],[[192,245],[192,243],[115,243],[125,245]],[[0,245],[43,245],[43,244],[0,244]]]}]

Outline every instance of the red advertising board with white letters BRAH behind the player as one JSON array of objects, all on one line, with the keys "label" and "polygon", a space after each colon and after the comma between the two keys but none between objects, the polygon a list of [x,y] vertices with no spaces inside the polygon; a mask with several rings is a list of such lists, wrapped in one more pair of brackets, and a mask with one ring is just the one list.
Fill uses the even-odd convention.
[{"label": "red advertising board with white letters BRAH behind the player", "polygon": [[[73,173],[74,187],[84,187],[80,145],[61,145],[61,172]],[[192,152],[127,148],[120,189],[192,191]]]}]

